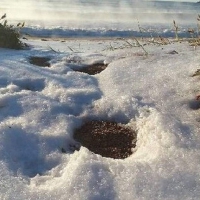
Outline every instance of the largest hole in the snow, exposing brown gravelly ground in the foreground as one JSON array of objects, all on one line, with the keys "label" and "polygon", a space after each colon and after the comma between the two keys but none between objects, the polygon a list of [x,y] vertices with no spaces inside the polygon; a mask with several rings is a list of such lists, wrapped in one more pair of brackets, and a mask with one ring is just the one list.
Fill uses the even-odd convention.
[{"label": "largest hole in the snow, exposing brown gravelly ground in the foreground", "polygon": [[93,153],[124,159],[132,154],[137,134],[134,130],[115,122],[93,120],[76,129],[74,139]]}]

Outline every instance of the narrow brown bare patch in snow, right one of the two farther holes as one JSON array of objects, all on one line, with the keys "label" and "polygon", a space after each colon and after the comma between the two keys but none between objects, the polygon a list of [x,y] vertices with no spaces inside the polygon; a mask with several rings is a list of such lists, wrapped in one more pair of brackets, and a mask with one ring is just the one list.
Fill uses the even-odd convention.
[{"label": "narrow brown bare patch in snow, right one of the two farther holes", "polygon": [[80,68],[80,69],[74,69],[74,71],[84,72],[89,75],[95,75],[95,74],[102,72],[106,67],[107,67],[107,65],[105,65],[105,64],[95,63],[95,64],[88,65],[88,66]]}]

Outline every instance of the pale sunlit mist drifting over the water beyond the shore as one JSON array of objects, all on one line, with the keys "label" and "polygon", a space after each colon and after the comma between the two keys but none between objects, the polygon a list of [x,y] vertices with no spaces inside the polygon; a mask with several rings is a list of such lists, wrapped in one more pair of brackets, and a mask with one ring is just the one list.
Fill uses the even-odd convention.
[{"label": "pale sunlit mist drifting over the water beyond the shore", "polygon": [[[169,0],[2,0],[0,11],[8,20],[25,20],[26,25],[103,27],[128,29],[141,23],[195,23],[199,4],[173,4]],[[176,2],[184,0],[176,0]],[[151,3],[152,2],[152,3]],[[165,3],[164,3],[165,2]],[[174,1],[175,2],[175,1]],[[186,2],[186,0],[184,1]],[[197,2],[187,0],[187,2]],[[96,27],[95,27],[96,28]]]}]

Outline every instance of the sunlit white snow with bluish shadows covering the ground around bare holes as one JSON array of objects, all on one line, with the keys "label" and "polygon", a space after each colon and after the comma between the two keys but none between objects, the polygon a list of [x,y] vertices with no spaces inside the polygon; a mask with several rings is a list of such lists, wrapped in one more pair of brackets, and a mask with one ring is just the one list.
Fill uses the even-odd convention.
[{"label": "sunlit white snow with bluish shadows covering the ground around bare holes", "polygon": [[[200,47],[152,44],[145,56],[114,39],[28,44],[0,49],[0,199],[200,199],[200,79],[192,77]],[[51,67],[29,56],[50,57]],[[73,71],[95,62],[109,65],[97,75]],[[88,118],[137,130],[133,155],[71,151]]]}]

